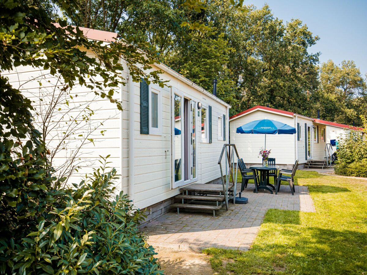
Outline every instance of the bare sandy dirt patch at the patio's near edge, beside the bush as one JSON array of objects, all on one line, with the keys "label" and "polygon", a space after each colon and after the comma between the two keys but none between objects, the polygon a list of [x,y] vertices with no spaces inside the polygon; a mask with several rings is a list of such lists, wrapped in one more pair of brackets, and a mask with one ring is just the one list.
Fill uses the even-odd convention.
[{"label": "bare sandy dirt patch at the patio's near edge, beside the bush", "polygon": [[166,275],[216,274],[210,266],[209,257],[203,253],[187,250],[176,250],[168,247],[157,247],[156,257]]}]

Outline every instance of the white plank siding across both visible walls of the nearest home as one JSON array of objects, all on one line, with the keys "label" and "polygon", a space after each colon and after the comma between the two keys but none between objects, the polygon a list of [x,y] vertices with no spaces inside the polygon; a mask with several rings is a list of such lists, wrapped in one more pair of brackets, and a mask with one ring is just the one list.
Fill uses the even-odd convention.
[{"label": "white plank siding across both visible walls of the nearest home", "polygon": [[[89,53],[91,55],[91,53]],[[157,69],[153,67],[153,70]],[[12,85],[16,88],[22,85],[25,96],[32,100],[37,98],[40,89],[51,89],[56,83],[56,78],[48,74],[48,71],[35,70],[33,67],[17,67],[17,72],[3,73],[7,74]],[[127,66],[124,63],[123,77],[127,77]],[[40,88],[38,79],[29,81],[37,76],[44,76]],[[200,117],[196,110],[196,132],[197,132],[197,183],[207,183],[220,177],[218,158],[225,143],[218,141],[218,115],[226,114],[226,107],[221,103],[211,99],[203,93],[193,89],[168,73],[161,75],[163,80],[168,80],[168,85],[178,88],[196,103],[202,102],[212,107],[212,143],[201,143]],[[50,82],[47,82],[50,80]],[[61,85],[58,85],[61,87]],[[118,92],[118,93],[117,93]],[[142,135],[140,133],[140,84],[134,83],[134,204],[137,208],[146,208],[156,203],[165,202],[169,198],[178,194],[178,188],[171,188],[171,87],[162,88],[162,135]],[[93,168],[99,167],[99,155],[106,156],[110,154],[109,160],[112,161],[109,166],[115,167],[121,175],[121,179],[116,182],[117,191],[128,192],[128,120],[129,96],[128,85],[116,89],[115,97],[122,101],[123,111],[117,110],[116,105],[109,100],[101,99],[95,96],[93,92],[85,87],[76,86],[71,94],[73,100],[69,100],[69,107],[75,107],[74,113],[77,113],[78,106],[88,102],[90,108],[95,111],[91,121],[104,121],[100,130],[92,137],[95,145],[88,144],[81,149],[82,159],[85,158],[89,165],[81,166],[79,172],[75,173],[69,182],[79,183],[85,173],[92,172]],[[76,96],[77,95],[77,96]],[[43,103],[43,108],[48,106]],[[60,113],[62,115],[62,111]],[[61,122],[68,122],[67,120]],[[41,125],[35,122],[35,125]],[[66,124],[65,124],[66,125]],[[228,133],[228,123],[226,124]],[[106,130],[104,136],[100,131]],[[54,145],[56,142],[51,143]],[[75,149],[77,145],[70,146]],[[166,151],[166,152],[165,152]],[[55,159],[56,165],[61,165],[65,161],[67,152],[62,151]],[[166,207],[166,206],[165,206]]]}]

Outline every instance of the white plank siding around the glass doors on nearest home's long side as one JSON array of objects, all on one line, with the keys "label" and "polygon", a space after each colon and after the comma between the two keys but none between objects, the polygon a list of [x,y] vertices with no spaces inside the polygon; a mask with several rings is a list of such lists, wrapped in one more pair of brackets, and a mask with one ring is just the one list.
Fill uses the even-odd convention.
[{"label": "white plank siding around the glass doors on nearest home's long side", "polygon": [[[153,67],[153,69],[156,69]],[[179,194],[179,188],[171,188],[171,93],[174,88],[183,92],[185,96],[197,102],[202,102],[212,106],[212,143],[201,143],[201,122],[200,117],[195,114],[196,133],[197,133],[197,181],[196,183],[207,183],[208,181],[220,177],[218,159],[225,143],[218,141],[217,120],[218,114],[226,114],[226,108],[221,103],[196,91],[189,85],[183,83],[168,73],[161,74],[161,79],[168,81],[162,93],[162,135],[142,135],[140,133],[140,84],[134,86],[134,143],[135,143],[135,195],[134,205],[140,209],[152,208],[152,205],[160,205],[161,202],[168,203],[167,200]],[[172,91],[172,92],[171,92]],[[125,99],[126,98],[126,99]],[[128,105],[128,95],[124,96],[126,106]],[[125,105],[125,104],[124,104]],[[123,114],[124,119],[128,119],[127,112]],[[124,124],[123,126],[125,127]],[[123,131],[128,131],[124,128]],[[127,151],[128,140],[124,139],[123,152]],[[126,149],[125,149],[126,148]],[[167,151],[167,152],[165,152]],[[167,157],[166,157],[167,153]],[[127,164],[127,159],[124,161]],[[125,179],[124,179],[125,180]],[[126,178],[127,182],[127,178]],[[158,207],[158,206],[157,206]],[[167,206],[164,206],[165,209]],[[155,208],[154,208],[155,209]],[[163,208],[162,208],[163,209]],[[160,212],[160,210],[157,210]],[[164,210],[162,210],[164,211]],[[149,217],[152,218],[159,213],[150,211]],[[150,219],[149,218],[149,219]]]}]

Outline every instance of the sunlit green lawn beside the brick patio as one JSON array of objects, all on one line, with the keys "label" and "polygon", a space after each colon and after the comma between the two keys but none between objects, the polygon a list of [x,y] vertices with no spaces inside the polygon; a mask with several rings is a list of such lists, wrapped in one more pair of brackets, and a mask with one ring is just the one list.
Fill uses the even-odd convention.
[{"label": "sunlit green lawn beside the brick patio", "polygon": [[250,250],[204,250],[218,274],[367,274],[367,181],[297,171],[295,182],[316,213],[269,209]]}]

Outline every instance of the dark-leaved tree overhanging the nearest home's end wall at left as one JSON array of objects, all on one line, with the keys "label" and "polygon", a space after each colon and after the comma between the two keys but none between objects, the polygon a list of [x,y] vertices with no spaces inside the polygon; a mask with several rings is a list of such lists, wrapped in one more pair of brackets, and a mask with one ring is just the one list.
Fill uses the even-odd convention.
[{"label": "dark-leaved tree overhanging the nearest home's end wall at left", "polygon": [[[69,18],[78,20],[74,0],[48,4],[37,0],[0,0],[1,72],[18,66],[41,67],[60,77],[66,87],[83,85],[95,95],[109,99],[119,110],[121,103],[113,95],[123,83],[121,58],[126,60],[133,80],[144,77],[163,85],[158,72],[145,73],[156,58],[154,51],[141,52],[138,42],[128,43],[133,38],[108,46],[102,41],[88,40],[78,27],[55,20],[56,15],[45,8],[50,5],[62,7]],[[95,57],[88,56],[83,49],[91,50]],[[41,220],[48,222],[47,213],[65,195],[65,190],[52,189],[63,179],[54,176],[47,158],[50,151],[33,125],[31,100],[1,74],[0,94],[0,271],[11,274],[13,267],[7,263],[15,253],[14,247],[36,230]]]}]

